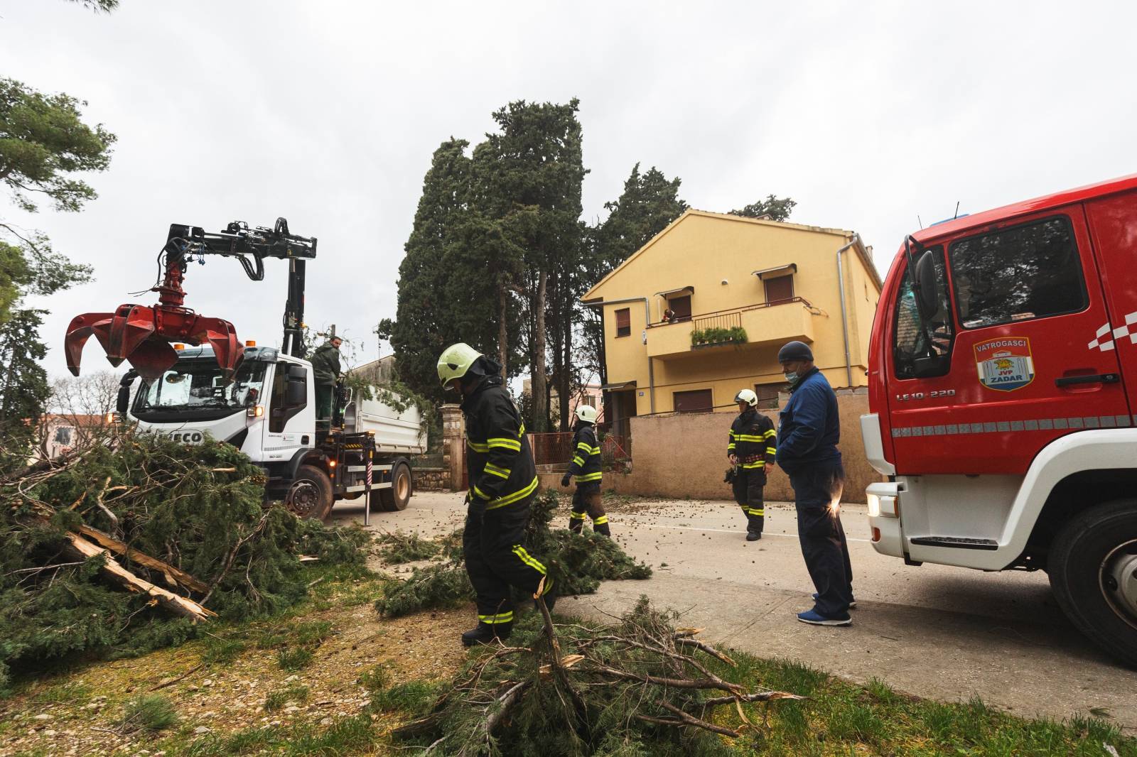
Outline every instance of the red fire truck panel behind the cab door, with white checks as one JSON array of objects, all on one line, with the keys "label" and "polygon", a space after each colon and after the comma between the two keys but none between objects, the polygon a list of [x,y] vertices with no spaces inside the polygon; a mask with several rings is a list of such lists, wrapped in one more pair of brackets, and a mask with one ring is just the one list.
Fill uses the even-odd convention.
[{"label": "red fire truck panel behind the cab door, with white checks", "polygon": [[1131,397],[1137,390],[1137,192],[1093,200],[1086,213],[1110,314],[1099,324],[1096,349],[1117,353],[1130,393],[1129,411],[1137,413]]}]

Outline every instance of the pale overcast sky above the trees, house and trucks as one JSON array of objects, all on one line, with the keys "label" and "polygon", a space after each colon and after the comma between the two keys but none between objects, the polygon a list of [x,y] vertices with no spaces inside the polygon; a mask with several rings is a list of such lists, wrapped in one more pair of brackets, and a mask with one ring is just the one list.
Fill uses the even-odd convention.
[{"label": "pale overcast sky above the trees, house and trucks", "polygon": [[[546,9],[548,8],[548,9]],[[633,164],[725,211],[771,192],[858,231],[881,274],[902,236],[1137,170],[1135,3],[0,0],[0,76],[86,100],[118,135],[78,214],[2,214],[94,266],[69,318],[150,286],[171,223],[319,238],[307,321],[376,356],[431,152],[518,99],[581,101],[586,219]],[[193,266],[186,303],[279,344],[284,265]],[[384,344],[384,352],[389,347]],[[84,367],[103,368],[93,340]]]}]

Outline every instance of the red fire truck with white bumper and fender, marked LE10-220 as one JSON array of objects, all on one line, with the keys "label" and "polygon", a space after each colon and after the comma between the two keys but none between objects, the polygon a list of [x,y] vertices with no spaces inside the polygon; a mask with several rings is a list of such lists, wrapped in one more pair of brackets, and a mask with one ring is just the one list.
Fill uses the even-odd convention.
[{"label": "red fire truck with white bumper and fender, marked LE10-220", "polygon": [[1044,569],[1137,665],[1137,175],[907,236],[869,363],[877,551]]}]

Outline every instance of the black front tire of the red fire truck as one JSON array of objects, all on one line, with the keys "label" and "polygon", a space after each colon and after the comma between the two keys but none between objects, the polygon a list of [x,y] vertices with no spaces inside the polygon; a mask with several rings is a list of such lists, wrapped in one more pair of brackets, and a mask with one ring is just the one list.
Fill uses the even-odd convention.
[{"label": "black front tire of the red fire truck", "polygon": [[1078,630],[1137,667],[1137,500],[1097,505],[1067,523],[1046,571]]}]

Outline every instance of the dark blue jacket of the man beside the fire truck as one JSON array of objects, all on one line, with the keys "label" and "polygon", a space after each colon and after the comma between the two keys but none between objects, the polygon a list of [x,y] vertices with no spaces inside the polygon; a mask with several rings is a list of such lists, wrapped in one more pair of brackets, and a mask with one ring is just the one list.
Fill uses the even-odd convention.
[{"label": "dark blue jacket of the man beside the fire truck", "polygon": [[798,473],[818,463],[840,463],[837,394],[814,367],[790,390],[778,426],[778,465]]}]

